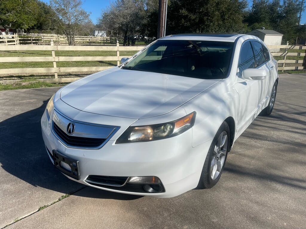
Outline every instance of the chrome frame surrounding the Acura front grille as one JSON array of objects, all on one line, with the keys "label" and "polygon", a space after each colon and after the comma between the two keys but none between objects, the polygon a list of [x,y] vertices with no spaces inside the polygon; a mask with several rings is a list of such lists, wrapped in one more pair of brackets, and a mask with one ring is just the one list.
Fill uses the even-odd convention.
[{"label": "chrome frame surrounding the Acura front grille", "polygon": [[[104,142],[99,145],[98,147],[76,147],[76,146],[72,146],[69,144],[66,144],[65,141],[63,141],[54,131],[54,127],[53,127],[53,114],[54,111],[58,112],[60,115],[62,115],[64,118],[67,118],[68,120],[70,120],[73,123],[81,123],[81,124],[85,124],[85,125],[92,125],[92,126],[101,126],[101,127],[108,127],[108,128],[114,128],[114,130],[110,133],[110,135],[104,140]],[[69,117],[67,117],[66,115],[62,114],[60,111],[58,111],[58,109],[56,109],[54,107],[53,111],[52,111],[52,115],[51,115],[51,132],[53,133],[53,135],[65,146],[68,148],[73,148],[73,149],[83,149],[83,150],[98,150],[101,149],[110,139],[112,136],[114,136],[114,134],[120,129],[120,126],[112,126],[112,125],[101,125],[101,124],[96,124],[96,123],[89,123],[89,122],[82,122],[82,121],[77,121],[77,120],[73,120]]]}]

